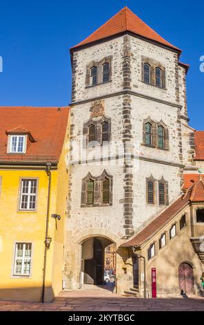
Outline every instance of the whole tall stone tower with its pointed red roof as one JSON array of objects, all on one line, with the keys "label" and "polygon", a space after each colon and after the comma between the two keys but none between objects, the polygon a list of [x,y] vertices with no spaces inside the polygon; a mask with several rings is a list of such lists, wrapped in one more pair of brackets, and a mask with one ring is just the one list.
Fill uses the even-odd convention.
[{"label": "whole tall stone tower with its pointed red roof", "polygon": [[120,292],[132,273],[119,245],[181,194],[187,66],[126,7],[70,53],[66,287],[101,283],[115,243]]}]

